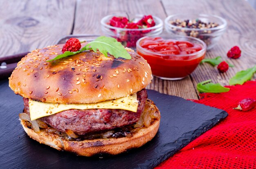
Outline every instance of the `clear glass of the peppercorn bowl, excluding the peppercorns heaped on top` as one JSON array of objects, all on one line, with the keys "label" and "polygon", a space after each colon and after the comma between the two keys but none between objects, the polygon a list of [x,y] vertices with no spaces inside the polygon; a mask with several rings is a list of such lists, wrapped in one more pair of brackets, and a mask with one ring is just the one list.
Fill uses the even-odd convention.
[{"label": "clear glass of the peppercorn bowl, excluding the peppercorns heaped on top", "polygon": [[[201,20],[202,22],[214,22],[217,23],[217,27],[212,27],[208,29],[200,28],[187,28],[187,27],[178,27],[171,24],[171,21],[179,19],[183,20]],[[227,28],[227,21],[220,16],[216,15],[207,15],[207,14],[175,14],[168,16],[165,20],[165,29],[168,33],[183,35],[183,36],[192,36],[203,40],[207,44],[207,50],[214,47],[222,34]]]}]

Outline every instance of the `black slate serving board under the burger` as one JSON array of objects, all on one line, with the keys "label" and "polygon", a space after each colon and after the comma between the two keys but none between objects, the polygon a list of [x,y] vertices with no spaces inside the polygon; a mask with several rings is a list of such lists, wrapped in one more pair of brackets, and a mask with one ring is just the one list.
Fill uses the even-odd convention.
[{"label": "black slate serving board under the burger", "polygon": [[213,127],[227,112],[148,90],[161,112],[157,135],[146,145],[111,157],[81,157],[30,139],[20,125],[23,102],[0,81],[0,168],[153,168]]}]

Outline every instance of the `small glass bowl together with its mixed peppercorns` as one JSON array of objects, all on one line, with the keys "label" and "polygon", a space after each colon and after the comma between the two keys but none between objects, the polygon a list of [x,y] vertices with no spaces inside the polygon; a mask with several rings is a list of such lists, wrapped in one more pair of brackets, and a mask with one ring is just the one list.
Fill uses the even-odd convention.
[{"label": "small glass bowl together with its mixed peppercorns", "polygon": [[175,14],[164,22],[168,33],[199,38],[207,44],[207,50],[217,44],[227,28],[225,19],[207,14]]}]

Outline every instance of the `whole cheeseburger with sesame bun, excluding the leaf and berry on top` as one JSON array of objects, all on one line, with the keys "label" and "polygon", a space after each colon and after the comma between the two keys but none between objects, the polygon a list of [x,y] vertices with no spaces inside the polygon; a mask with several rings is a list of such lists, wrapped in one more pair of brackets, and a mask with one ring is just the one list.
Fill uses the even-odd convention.
[{"label": "whole cheeseburger with sesame bun, excluding the leaf and berry on top", "polygon": [[79,156],[119,154],[157,133],[160,112],[145,87],[153,76],[135,51],[131,59],[83,51],[62,54],[63,44],[36,49],[18,62],[9,87],[23,97],[20,123],[27,135]]}]

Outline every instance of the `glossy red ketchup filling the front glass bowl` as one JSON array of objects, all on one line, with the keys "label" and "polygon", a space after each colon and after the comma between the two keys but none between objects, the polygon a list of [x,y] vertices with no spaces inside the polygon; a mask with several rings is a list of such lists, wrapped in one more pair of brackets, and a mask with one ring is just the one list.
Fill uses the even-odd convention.
[{"label": "glossy red ketchup filling the front glass bowl", "polygon": [[146,51],[137,47],[137,53],[148,61],[152,73],[164,78],[184,78],[195,70],[205,56],[205,50],[195,53],[202,50],[200,44],[184,40],[147,37],[139,45]]}]

